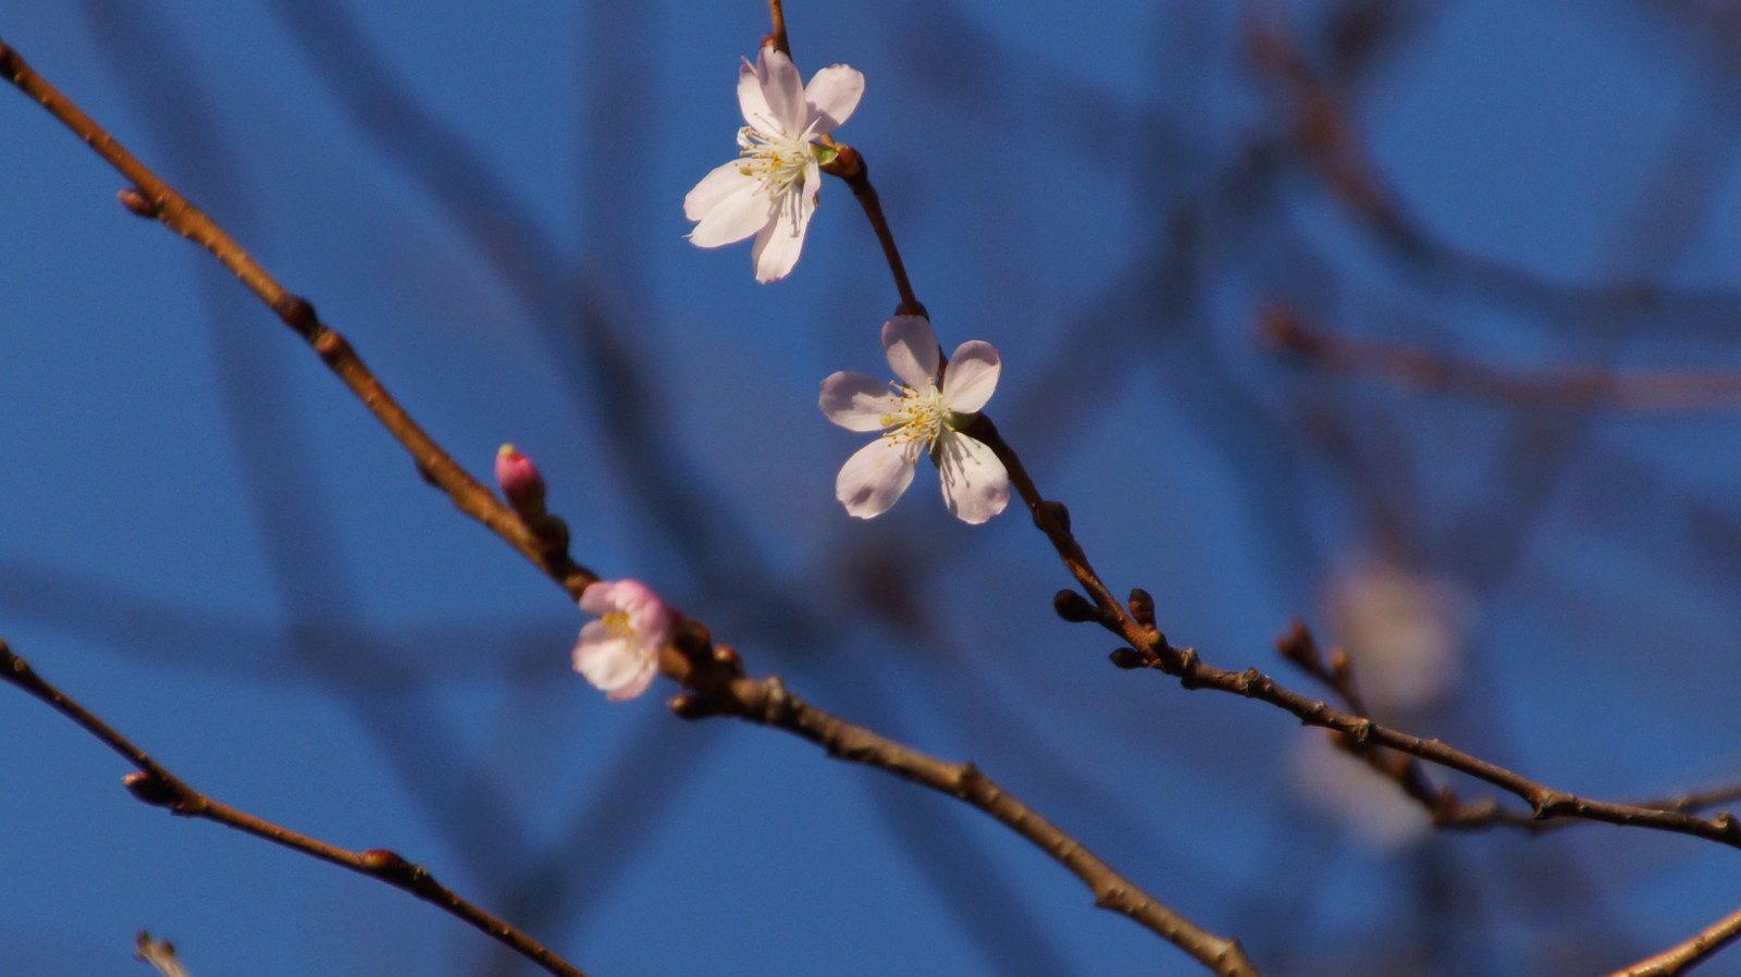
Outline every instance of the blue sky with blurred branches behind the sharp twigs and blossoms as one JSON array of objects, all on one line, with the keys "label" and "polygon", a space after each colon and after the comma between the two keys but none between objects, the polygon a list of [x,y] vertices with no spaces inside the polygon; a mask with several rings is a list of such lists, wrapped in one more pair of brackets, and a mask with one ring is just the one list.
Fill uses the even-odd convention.
[{"label": "blue sky with blurred branches behind the sharp twigs and blossoms", "polygon": [[[1360,9],[1389,33],[1344,57]],[[1389,554],[1459,594],[1461,630],[1435,697],[1381,718],[1624,799],[1741,780],[1734,413],[1334,376],[1255,322],[1283,303],[1499,366],[1736,364],[1741,28],[1701,9],[789,19],[806,75],[865,73],[839,136],[944,347],[1003,352],[989,413],[1114,590],[1151,589],[1210,662],[1309,688],[1271,639],[1299,615],[1353,643],[1327,594]],[[1104,634],[1053,617],[1067,576],[1018,512],[956,524],[921,472],[848,519],[832,481],[860,439],[817,383],[883,371],[897,300],[850,193],[823,186],[778,284],[747,246],[682,240],[766,30],[757,0],[0,3],[0,37],[454,458],[533,455],[581,563],[811,702],[973,759],[1271,977],[1595,974],[1741,904],[1734,853],[1675,836],[1386,841],[1382,789],[1302,787],[1332,777],[1301,773],[1314,733],[1109,667]],[[1254,31],[1327,82],[1388,230],[1294,138],[1299,87]],[[1200,972],[973,812],[682,724],[669,683],[604,702],[568,670],[573,604],[268,310],[16,92],[0,134],[0,636],[195,787],[393,848],[592,975]],[[21,693],[0,745],[0,974],[141,974],[138,928],[195,977],[524,970],[404,893],[138,805]]]}]

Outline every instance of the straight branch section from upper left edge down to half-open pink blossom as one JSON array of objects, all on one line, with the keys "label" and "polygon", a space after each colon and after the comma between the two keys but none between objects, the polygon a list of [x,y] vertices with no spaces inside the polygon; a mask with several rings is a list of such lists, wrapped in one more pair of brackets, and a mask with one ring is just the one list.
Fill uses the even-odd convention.
[{"label": "straight branch section from upper left edge down to half-open pink blossom", "polygon": [[0,40],[0,75],[42,104],[42,108],[49,110],[50,115],[71,129],[75,136],[84,139],[104,162],[132,183],[131,188],[120,193],[122,204],[129,211],[157,218],[169,230],[209,251],[212,258],[218,258],[230,273],[266,303],[286,326],[301,336],[320,360],[338,374],[345,387],[362,401],[369,413],[381,421],[388,434],[411,453],[423,477],[442,489],[454,509],[487,526],[519,550],[521,556],[561,583],[571,596],[578,597],[588,583],[597,580],[590,569],[575,564],[568,552],[557,552],[541,543],[508,507],[501,505],[489,489],[472,479],[453,456],[442,451],[411,420],[411,414],[387,394],[380,380],[364,366],[345,336],[320,322],[313,305],[286,291],[223,228],[129,153],[3,40]]}]

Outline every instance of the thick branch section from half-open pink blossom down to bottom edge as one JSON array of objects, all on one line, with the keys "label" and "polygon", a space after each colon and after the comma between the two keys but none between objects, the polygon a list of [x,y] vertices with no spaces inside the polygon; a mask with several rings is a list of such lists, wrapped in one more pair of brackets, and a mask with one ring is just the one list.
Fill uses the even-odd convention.
[{"label": "thick branch section from half-open pink blossom down to bottom edge", "polygon": [[872,766],[940,794],[956,798],[1069,869],[1095,897],[1095,906],[1118,913],[1187,953],[1222,977],[1257,977],[1240,940],[1217,937],[1118,874],[1079,841],[1065,834],[1038,812],[1010,796],[971,763],[945,763],[872,730],[846,723],[815,709],[785,690],[778,677],[743,676],[736,655],[707,644],[702,636],[679,639],[681,650],[667,650],[660,669],[677,677],[689,693],[672,700],[672,711],[684,719],[735,716],[761,726],[783,730],[817,744],[834,759]]}]

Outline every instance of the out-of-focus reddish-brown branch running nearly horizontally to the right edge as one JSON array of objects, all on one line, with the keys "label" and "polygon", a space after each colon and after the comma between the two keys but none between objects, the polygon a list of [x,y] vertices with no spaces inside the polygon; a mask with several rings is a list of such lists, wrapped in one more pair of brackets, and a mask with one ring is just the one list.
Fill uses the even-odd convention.
[{"label": "out-of-focus reddish-brown branch running nearly horizontally to the right edge", "polygon": [[1309,326],[1295,310],[1281,305],[1264,310],[1259,331],[1269,347],[1325,373],[1377,376],[1398,387],[1515,408],[1602,408],[1631,413],[1741,409],[1741,371],[1734,369],[1508,369],[1398,343],[1358,340]]}]

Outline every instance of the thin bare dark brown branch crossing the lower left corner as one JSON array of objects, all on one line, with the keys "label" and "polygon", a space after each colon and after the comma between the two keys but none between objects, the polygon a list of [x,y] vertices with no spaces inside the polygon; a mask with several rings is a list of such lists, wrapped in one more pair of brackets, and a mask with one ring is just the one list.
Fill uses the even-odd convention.
[{"label": "thin bare dark brown branch crossing the lower left corner", "polygon": [[308,838],[306,834],[279,827],[277,824],[258,819],[251,813],[239,812],[195,791],[179,777],[146,756],[146,752],[136,747],[131,740],[110,728],[108,723],[97,719],[84,705],[49,684],[23,658],[14,655],[3,639],[0,639],[0,681],[7,681],[42,700],[131,763],[136,773],[124,777],[122,784],[127,785],[127,791],[134,796],[134,799],[165,808],[181,817],[197,817],[225,827],[233,827],[244,834],[263,838],[292,852],[301,852],[303,855],[320,859],[322,862],[331,862],[357,874],[383,881],[440,907],[447,914],[465,921],[472,928],[489,935],[496,942],[507,946],[514,953],[531,960],[557,977],[585,977],[578,968],[575,968],[575,965],[550,953],[538,940],[531,939],[510,923],[479,909],[472,902],[467,902],[451,888],[437,883],[423,866],[406,862],[402,857],[385,848],[348,852],[345,848],[327,845],[326,841]]}]

